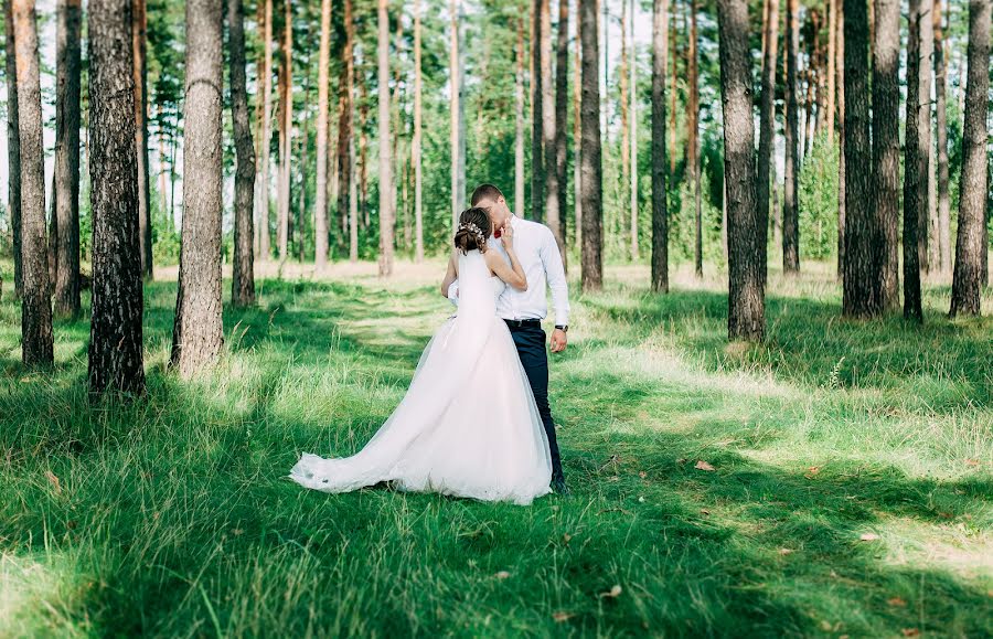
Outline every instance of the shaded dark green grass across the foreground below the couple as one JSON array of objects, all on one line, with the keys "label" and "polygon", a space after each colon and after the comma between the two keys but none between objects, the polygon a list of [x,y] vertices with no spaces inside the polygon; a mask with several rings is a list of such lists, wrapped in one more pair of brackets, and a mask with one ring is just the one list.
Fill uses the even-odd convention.
[{"label": "shaded dark green grass across the foreground below the couple", "polygon": [[[246,599],[278,608],[280,633],[333,631],[342,616],[382,635],[521,622],[630,636],[993,631],[982,588],[886,550],[896,543],[887,520],[968,522],[987,480],[910,479],[855,462],[792,472],[693,437],[610,434],[567,450],[572,499],[531,509],[382,488],[325,496],[281,479],[310,434],[260,428],[274,420],[273,387],[263,380],[244,411],[157,375],[143,404],[90,406],[72,385],[53,391],[49,403],[73,420],[0,434],[6,450],[24,454],[8,455],[4,475],[23,484],[20,499],[0,500],[0,549],[29,555],[44,539],[49,553],[82,554],[77,569],[95,581],[68,614],[98,633],[207,632],[214,617],[244,631]],[[26,392],[0,406],[23,405]],[[50,446],[40,448],[42,434]],[[698,458],[715,470],[694,468]],[[64,487],[41,479],[43,469]],[[859,541],[872,531],[882,539]],[[263,569],[253,562],[271,562],[275,574],[253,582]],[[503,568],[514,576],[493,586]],[[314,577],[329,587],[289,596]],[[615,584],[623,594],[605,597]],[[447,613],[435,609],[437,593]],[[476,609],[496,626],[473,625]]]}]

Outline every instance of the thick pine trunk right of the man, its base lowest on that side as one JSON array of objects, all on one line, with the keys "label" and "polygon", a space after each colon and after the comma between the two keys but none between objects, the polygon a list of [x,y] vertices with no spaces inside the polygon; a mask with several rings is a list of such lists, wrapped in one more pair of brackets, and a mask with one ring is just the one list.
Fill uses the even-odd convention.
[{"label": "thick pine trunk right of the man, its base lowest on that side", "polygon": [[730,340],[761,341],[766,331],[761,216],[755,200],[751,52],[746,0],[718,0],[724,174],[727,180],[728,309]]}]

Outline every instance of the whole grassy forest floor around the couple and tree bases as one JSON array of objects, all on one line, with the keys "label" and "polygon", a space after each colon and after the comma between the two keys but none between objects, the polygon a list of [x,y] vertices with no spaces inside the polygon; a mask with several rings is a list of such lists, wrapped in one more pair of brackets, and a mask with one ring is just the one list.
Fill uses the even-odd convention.
[{"label": "whole grassy forest floor around the couple and tree bases", "polygon": [[993,636],[991,296],[979,320],[930,285],[923,328],[844,321],[813,265],[770,276],[765,344],[729,345],[720,280],[656,296],[608,268],[552,364],[572,497],[287,480],[399,402],[442,267],[260,280],[190,383],[163,270],[130,405],[88,403],[86,320],[56,324],[54,372],[21,368],[8,281],[0,636]]}]

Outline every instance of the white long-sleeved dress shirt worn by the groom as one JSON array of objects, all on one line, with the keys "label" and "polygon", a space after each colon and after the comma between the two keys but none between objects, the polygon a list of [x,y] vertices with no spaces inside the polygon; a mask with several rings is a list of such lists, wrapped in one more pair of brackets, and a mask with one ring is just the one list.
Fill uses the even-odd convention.
[{"label": "white long-sleeved dress shirt worn by the groom", "polygon": [[[555,310],[555,324],[569,323],[569,288],[566,280],[562,254],[552,230],[544,224],[511,217],[514,227],[514,252],[521,260],[521,267],[527,277],[527,290],[517,290],[511,286],[504,288],[496,298],[496,315],[501,319],[543,320],[548,316],[548,300],[545,289],[552,289],[552,306]],[[489,248],[496,249],[510,263],[503,248],[503,241],[490,237]],[[448,298],[458,303],[458,285],[456,280],[448,288]]]}]

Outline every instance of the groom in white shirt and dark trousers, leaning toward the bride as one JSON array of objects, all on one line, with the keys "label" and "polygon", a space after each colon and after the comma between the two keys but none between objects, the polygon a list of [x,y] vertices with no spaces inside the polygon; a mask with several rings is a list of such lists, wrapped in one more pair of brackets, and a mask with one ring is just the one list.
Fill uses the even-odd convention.
[{"label": "groom in white shirt and dark trousers, leaning toward the bride", "polygon": [[[472,192],[471,204],[489,214],[496,230],[490,238],[490,247],[499,251],[504,257],[506,254],[500,241],[500,230],[505,224],[514,228],[514,248],[527,276],[527,290],[505,287],[496,299],[496,315],[506,322],[517,347],[517,355],[527,374],[534,401],[548,436],[552,488],[559,494],[568,494],[558,455],[558,440],[555,437],[555,422],[552,420],[552,409],[548,407],[548,354],[545,351],[545,331],[542,330],[542,320],[548,315],[545,298],[547,286],[552,289],[552,305],[555,309],[552,352],[560,353],[565,350],[568,343],[566,333],[569,330],[569,291],[558,244],[552,230],[544,224],[522,220],[511,213],[503,193],[493,184],[477,187]],[[453,278],[455,274],[450,271],[445,281],[451,284],[442,287],[442,290],[447,290],[448,298],[458,303],[458,281],[453,281]]]}]

